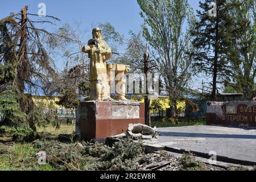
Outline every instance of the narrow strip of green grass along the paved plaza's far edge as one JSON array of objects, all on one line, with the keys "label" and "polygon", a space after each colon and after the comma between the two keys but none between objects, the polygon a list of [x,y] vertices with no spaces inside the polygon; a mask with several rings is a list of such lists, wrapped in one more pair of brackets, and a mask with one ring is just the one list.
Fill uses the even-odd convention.
[{"label": "narrow strip of green grass along the paved plaza's far edge", "polygon": [[198,119],[196,121],[152,121],[151,126],[156,127],[181,127],[181,126],[199,126],[206,125],[205,119]]}]

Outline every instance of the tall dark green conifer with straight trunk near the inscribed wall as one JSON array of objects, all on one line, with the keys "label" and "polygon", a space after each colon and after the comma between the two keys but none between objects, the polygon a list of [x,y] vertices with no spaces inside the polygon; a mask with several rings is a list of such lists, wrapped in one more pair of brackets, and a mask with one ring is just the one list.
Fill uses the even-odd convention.
[{"label": "tall dark green conifer with straight trunk near the inscribed wall", "polygon": [[232,45],[233,19],[230,9],[236,6],[228,0],[200,1],[201,10],[197,10],[199,20],[192,35],[196,67],[212,75],[211,99],[216,100],[217,84],[230,81],[230,64],[227,54]]}]

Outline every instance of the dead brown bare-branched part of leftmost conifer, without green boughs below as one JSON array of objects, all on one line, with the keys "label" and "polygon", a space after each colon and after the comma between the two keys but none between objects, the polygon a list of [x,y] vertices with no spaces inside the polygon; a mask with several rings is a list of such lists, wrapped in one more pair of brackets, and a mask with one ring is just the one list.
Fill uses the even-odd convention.
[{"label": "dead brown bare-branched part of leftmost conifer, without green boughs below", "polygon": [[[52,23],[48,19],[59,19],[27,13],[28,6],[18,14],[0,20],[0,64],[5,69],[1,79],[0,93],[15,88],[18,90],[19,108],[29,115],[34,110],[31,94],[42,90],[46,95],[57,91],[59,76],[54,61],[46,50],[42,38],[48,35],[52,39],[62,38],[44,28],[37,28],[37,23]],[[31,18],[30,18],[31,17]],[[1,72],[2,75],[2,72]],[[29,94],[24,96],[24,92]],[[20,115],[20,117],[22,117]],[[29,127],[35,131],[35,123],[27,119]]]}]

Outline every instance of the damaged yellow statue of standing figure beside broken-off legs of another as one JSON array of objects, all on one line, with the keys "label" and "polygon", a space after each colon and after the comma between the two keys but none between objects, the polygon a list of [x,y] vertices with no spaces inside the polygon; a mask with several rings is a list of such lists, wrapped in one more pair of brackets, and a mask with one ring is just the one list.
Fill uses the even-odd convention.
[{"label": "damaged yellow statue of standing figure beside broken-off legs of another", "polygon": [[125,98],[125,73],[129,73],[130,67],[122,64],[106,64],[110,59],[112,51],[101,35],[100,28],[93,28],[93,39],[90,39],[88,46],[82,48],[82,52],[88,53],[90,59],[90,100],[106,101],[110,98],[110,82],[114,81],[110,77],[110,72],[114,71],[117,76],[118,99]]}]

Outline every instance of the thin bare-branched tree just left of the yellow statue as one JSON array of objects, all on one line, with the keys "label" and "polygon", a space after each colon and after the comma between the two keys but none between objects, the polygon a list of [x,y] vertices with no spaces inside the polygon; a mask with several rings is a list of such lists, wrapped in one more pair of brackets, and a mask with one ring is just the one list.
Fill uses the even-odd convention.
[{"label": "thin bare-branched tree just left of the yellow statue", "polygon": [[65,63],[60,73],[61,85],[59,104],[65,107],[77,107],[79,100],[89,97],[89,59],[81,52],[86,30],[80,30],[79,24],[73,28],[65,23],[57,30],[58,35],[68,39],[51,41],[54,55],[59,55]]}]

